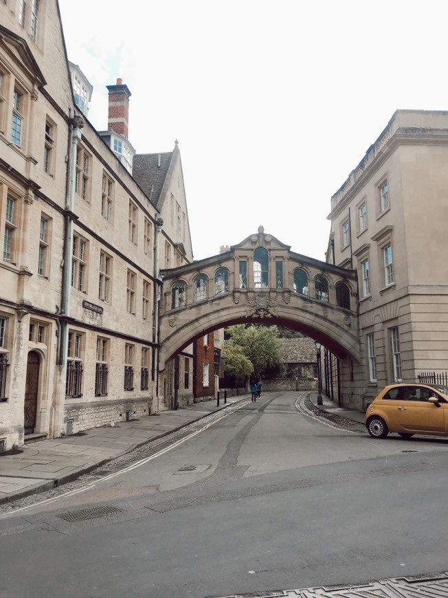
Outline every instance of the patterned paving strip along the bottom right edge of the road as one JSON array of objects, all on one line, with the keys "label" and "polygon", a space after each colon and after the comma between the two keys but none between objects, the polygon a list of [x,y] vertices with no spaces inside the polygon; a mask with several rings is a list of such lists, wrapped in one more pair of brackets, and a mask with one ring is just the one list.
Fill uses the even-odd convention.
[{"label": "patterned paving strip along the bottom right edge of the road", "polygon": [[232,594],[221,598],[447,598],[448,573],[382,579],[361,586],[282,590],[257,594]]}]

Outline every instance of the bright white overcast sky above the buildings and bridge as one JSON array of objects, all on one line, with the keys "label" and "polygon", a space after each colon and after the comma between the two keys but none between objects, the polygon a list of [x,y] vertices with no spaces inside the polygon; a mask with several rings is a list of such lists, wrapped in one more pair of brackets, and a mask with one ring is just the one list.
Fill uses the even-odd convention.
[{"label": "bright white overcast sky above the buildings and bridge", "polygon": [[59,2],[93,126],[122,78],[137,153],[179,140],[195,259],[263,225],[324,260],[331,195],[394,111],[448,109],[447,0]]}]

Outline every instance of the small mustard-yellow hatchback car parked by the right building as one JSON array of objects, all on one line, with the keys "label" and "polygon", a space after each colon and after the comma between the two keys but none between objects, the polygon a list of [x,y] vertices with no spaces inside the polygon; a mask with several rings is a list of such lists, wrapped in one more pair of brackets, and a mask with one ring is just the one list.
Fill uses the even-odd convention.
[{"label": "small mustard-yellow hatchback car parked by the right building", "polygon": [[447,388],[426,384],[391,384],[381,390],[366,410],[366,428],[372,438],[398,432],[448,436]]}]

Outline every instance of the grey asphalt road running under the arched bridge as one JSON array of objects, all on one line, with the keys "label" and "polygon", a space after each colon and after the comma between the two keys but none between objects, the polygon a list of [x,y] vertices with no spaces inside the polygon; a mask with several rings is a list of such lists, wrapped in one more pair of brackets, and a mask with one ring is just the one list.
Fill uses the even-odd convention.
[{"label": "grey asphalt road running under the arched bridge", "polygon": [[374,440],[297,399],[267,393],[140,463],[0,509],[1,598],[203,598],[446,571],[448,440]]}]

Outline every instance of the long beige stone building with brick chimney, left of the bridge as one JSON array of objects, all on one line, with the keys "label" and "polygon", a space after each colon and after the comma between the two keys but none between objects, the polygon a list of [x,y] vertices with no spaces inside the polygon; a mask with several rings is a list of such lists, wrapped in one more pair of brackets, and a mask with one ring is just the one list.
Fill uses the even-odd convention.
[{"label": "long beige stone building with brick chimney, left of the bridge", "polygon": [[[159,269],[189,263],[192,247],[177,142],[133,157],[120,80],[109,87],[108,131],[93,128],[57,1],[2,1],[0,23],[7,450],[169,407],[157,368]],[[75,76],[84,87],[72,87]]]}]

